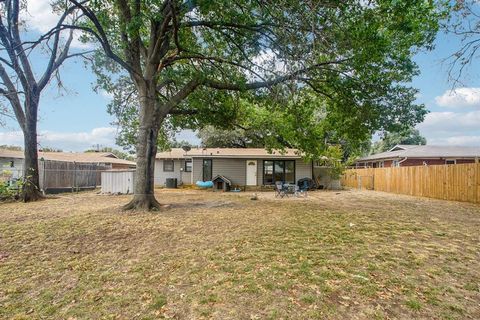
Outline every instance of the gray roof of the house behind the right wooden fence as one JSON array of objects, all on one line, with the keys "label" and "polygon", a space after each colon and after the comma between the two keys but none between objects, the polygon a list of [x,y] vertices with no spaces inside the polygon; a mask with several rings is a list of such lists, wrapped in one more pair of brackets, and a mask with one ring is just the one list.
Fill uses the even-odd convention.
[{"label": "gray roof of the house behind the right wooden fence", "polygon": [[476,158],[480,157],[480,147],[454,147],[454,146],[418,146],[397,145],[390,150],[357,159],[365,162],[381,159],[396,158]]}]

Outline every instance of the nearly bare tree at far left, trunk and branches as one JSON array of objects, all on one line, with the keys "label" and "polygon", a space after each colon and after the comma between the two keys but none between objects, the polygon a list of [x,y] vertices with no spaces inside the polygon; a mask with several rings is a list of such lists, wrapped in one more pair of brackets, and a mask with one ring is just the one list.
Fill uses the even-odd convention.
[{"label": "nearly bare tree at far left, trunk and branches", "polygon": [[[10,105],[13,117],[23,132],[25,183],[21,199],[24,202],[42,197],[37,151],[40,95],[51,84],[52,78],[58,80],[58,70],[62,63],[76,55],[69,54],[73,32],[70,31],[66,41],[62,41],[60,35],[64,29],[61,25],[74,23],[69,19],[75,8],[62,10],[60,2],[57,3],[56,9],[63,12],[57,25],[42,36],[32,37],[32,33],[24,32],[21,18],[21,11],[27,12],[27,6],[28,2],[22,0],[3,0],[0,3],[0,97]],[[46,55],[43,65],[32,63],[30,56],[35,54]],[[43,71],[40,72],[42,68]]]}]

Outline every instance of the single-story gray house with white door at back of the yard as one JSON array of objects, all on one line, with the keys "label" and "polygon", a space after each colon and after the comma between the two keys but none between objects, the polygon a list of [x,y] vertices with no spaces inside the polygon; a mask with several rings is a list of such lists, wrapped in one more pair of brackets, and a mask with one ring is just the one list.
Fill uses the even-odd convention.
[{"label": "single-story gray house with white door at back of the yard", "polygon": [[176,178],[179,184],[189,185],[217,176],[228,179],[232,187],[271,186],[276,181],[296,184],[302,178],[320,178],[320,184],[325,179],[327,184],[325,172],[305,162],[296,149],[269,153],[262,148],[192,148],[187,152],[173,148],[157,154],[155,184],[165,186],[167,178]]}]

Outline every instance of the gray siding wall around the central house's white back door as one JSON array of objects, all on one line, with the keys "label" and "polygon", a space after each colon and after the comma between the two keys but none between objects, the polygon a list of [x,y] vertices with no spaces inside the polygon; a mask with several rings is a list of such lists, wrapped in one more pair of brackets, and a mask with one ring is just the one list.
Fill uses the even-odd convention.
[{"label": "gray siding wall around the central house's white back door", "polygon": [[[208,158],[205,158],[208,159]],[[244,186],[247,184],[247,160],[257,161],[257,185],[263,185],[263,160],[264,159],[236,159],[212,158],[212,178],[223,175],[232,181],[232,184]],[[268,159],[272,160],[272,159]],[[275,159],[273,159],[275,160]],[[283,159],[278,159],[283,160]],[[286,159],[288,160],[288,159]],[[193,159],[193,183],[203,179],[203,158]],[[305,163],[302,159],[295,160],[295,180],[312,178],[312,163]]]}]

